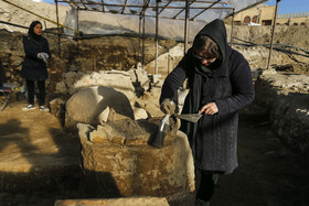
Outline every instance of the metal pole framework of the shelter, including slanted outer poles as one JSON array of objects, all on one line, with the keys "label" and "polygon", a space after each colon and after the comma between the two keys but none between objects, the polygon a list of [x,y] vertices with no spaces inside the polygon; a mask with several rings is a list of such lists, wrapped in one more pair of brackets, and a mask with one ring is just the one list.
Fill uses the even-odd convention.
[{"label": "metal pole framework of the shelter, including slanted outer poles", "polygon": [[[40,17],[42,19],[45,19],[52,23],[55,23],[54,21],[52,20],[49,20],[40,14],[36,14],[36,13],[33,13],[24,8],[21,8],[8,0],[2,0],[9,4],[12,4],[19,9],[22,9],[26,12],[30,12],[36,17]],[[128,4],[128,0],[124,0],[124,3],[119,3],[119,4],[111,4],[111,3],[106,3],[104,2],[104,0],[100,0],[100,3],[99,2],[94,2],[94,0],[78,0],[78,1],[74,1],[74,0],[54,0],[55,2],[55,7],[56,7],[56,25],[57,25],[57,35],[58,35],[58,55],[61,55],[61,35],[63,35],[60,31],[60,26],[62,28],[66,28],[68,30],[73,30],[71,28],[67,28],[65,25],[62,25],[60,24],[58,22],[58,3],[68,3],[72,8],[75,8],[77,10],[77,31],[76,30],[73,30],[75,31],[75,34],[76,34],[76,39],[77,39],[77,50],[79,47],[78,45],[78,40],[79,40],[79,34],[81,32],[78,31],[78,10],[87,10],[87,11],[100,11],[100,12],[109,12],[109,13],[116,13],[116,14],[124,14],[124,15],[138,15],[140,21],[139,21],[139,36],[140,36],[140,33],[142,31],[142,50],[140,50],[140,42],[139,42],[139,52],[141,51],[142,54],[142,66],[143,66],[143,63],[145,63],[145,18],[146,17],[149,17],[149,18],[156,18],[156,74],[158,73],[158,39],[159,39],[159,35],[158,35],[158,28],[159,28],[159,18],[167,18],[167,19],[177,19],[177,20],[184,20],[184,53],[187,52],[188,50],[188,33],[189,33],[189,21],[199,21],[199,20],[195,20],[199,15],[201,15],[202,13],[204,13],[205,11],[210,10],[210,9],[232,9],[233,13],[230,14],[232,15],[232,31],[231,31],[231,44],[233,43],[233,28],[234,28],[234,15],[235,15],[235,8],[233,7],[221,7],[221,8],[217,8],[217,7],[214,7],[214,6],[217,6],[217,4],[225,4],[227,6],[226,2],[224,2],[224,0],[216,0],[216,1],[203,1],[203,0],[167,0],[167,2],[163,4],[163,6],[159,6],[159,3],[161,2],[162,0],[156,0],[156,6],[150,6],[150,0],[143,0],[143,3],[142,4]],[[259,2],[256,2],[255,4],[251,4],[249,7],[247,8],[243,8],[242,10],[238,10],[237,12],[241,12],[243,11],[244,9],[248,9],[251,7],[254,7],[256,6],[257,3],[262,3],[262,2],[265,2],[266,0],[260,0]],[[275,34],[275,26],[276,26],[276,17],[277,17],[277,9],[278,9],[278,4],[280,2],[280,0],[276,0],[277,3],[276,3],[276,11],[275,11],[275,18],[274,18],[274,24],[273,24],[273,32],[271,32],[271,41],[270,41],[270,50],[269,50],[269,56],[268,56],[268,62],[267,62],[267,67],[266,68],[269,68],[269,64],[270,64],[270,58],[271,58],[271,51],[273,51],[273,40],[274,40],[274,34]],[[170,4],[172,2],[184,2],[184,7],[171,7]],[[210,6],[207,7],[191,7],[194,2],[196,3],[210,3]],[[98,10],[97,8],[92,8],[89,6],[100,6],[102,7],[102,10]],[[81,7],[83,6],[83,7]],[[117,12],[115,10],[106,10],[105,7],[122,7],[121,11],[120,12]],[[126,8],[140,8],[140,12],[136,12],[134,10],[130,10],[130,13],[128,12],[125,12],[125,9]],[[156,11],[156,14],[153,15],[147,15],[146,14],[146,11],[148,9],[152,9]],[[160,9],[160,11],[159,11]],[[164,10],[168,10],[168,9],[181,9],[180,12],[178,12],[173,17],[160,17],[160,14],[164,11]],[[190,19],[190,11],[191,10],[194,10],[194,9],[202,9],[202,11],[200,11],[199,13],[196,13],[194,17],[192,17]],[[184,12],[185,14],[185,18],[184,19],[181,19],[181,18],[178,18],[182,12]],[[236,12],[236,13],[237,13]],[[201,20],[200,20],[201,21]],[[204,21],[205,22],[205,21]],[[142,29],[141,29],[142,28]],[[139,40],[140,41],[140,40]]]}]

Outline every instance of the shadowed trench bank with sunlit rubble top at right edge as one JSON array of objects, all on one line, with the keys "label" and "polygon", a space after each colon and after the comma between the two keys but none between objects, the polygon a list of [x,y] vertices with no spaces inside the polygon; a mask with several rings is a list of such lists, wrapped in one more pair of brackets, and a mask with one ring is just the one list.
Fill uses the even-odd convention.
[{"label": "shadowed trench bank with sunlit rubble top at right edge", "polygon": [[294,149],[309,149],[309,76],[262,75],[256,82],[256,101],[270,112],[273,129]]}]

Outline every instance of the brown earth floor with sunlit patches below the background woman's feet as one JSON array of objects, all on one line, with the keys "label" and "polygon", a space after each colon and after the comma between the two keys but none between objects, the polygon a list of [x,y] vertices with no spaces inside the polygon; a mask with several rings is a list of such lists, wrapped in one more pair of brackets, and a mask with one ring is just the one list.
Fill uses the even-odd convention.
[{"label": "brown earth floor with sunlit patches below the background woman's feet", "polygon": [[[0,111],[0,205],[53,205],[78,185],[79,140],[50,112]],[[1,105],[2,108],[2,105]],[[68,191],[67,191],[68,189]]]}]

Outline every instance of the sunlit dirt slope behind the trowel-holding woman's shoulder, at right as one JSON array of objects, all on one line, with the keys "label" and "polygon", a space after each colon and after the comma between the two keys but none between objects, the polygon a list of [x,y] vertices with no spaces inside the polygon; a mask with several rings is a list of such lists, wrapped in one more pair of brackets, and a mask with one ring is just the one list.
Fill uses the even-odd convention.
[{"label": "sunlit dirt slope behind the trowel-holding woman's shoulder, at right", "polygon": [[[233,47],[241,52],[252,68],[266,68],[273,26],[234,28]],[[231,26],[227,26],[231,32]],[[270,65],[280,72],[309,74],[308,25],[277,25]]]}]

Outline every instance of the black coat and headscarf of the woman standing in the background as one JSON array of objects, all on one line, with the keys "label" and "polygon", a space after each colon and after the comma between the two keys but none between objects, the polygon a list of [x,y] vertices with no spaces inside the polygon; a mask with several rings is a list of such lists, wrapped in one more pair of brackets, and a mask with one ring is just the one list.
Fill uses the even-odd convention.
[{"label": "black coat and headscarf of the woman standing in the background", "polygon": [[31,23],[28,35],[23,36],[22,43],[25,57],[22,64],[21,75],[29,80],[45,80],[49,78],[46,63],[38,57],[39,53],[46,53],[51,57],[49,42],[42,35],[34,33],[33,29],[40,23]]}]

